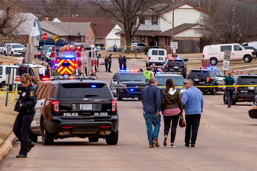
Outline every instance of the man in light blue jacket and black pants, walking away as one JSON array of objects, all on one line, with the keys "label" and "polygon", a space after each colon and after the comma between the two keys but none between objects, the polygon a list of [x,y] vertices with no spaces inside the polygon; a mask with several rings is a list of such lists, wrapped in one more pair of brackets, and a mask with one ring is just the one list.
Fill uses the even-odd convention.
[{"label": "man in light blue jacket and black pants, walking away", "polygon": [[[191,147],[195,147],[197,132],[200,124],[201,113],[203,112],[202,92],[193,86],[191,79],[185,81],[186,91],[183,93],[182,102],[185,105],[186,135],[185,146],[189,147],[191,138]],[[191,135],[192,130],[192,135]]]}]

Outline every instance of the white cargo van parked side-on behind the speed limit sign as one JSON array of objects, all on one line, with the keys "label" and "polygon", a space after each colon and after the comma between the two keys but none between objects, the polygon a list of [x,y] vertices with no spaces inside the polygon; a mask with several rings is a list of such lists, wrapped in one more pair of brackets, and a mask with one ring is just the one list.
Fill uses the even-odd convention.
[{"label": "white cargo van parked side-on behind the speed limit sign", "polygon": [[246,49],[241,44],[217,44],[204,46],[203,58],[210,59],[211,65],[217,65],[223,61],[225,50],[231,51],[230,61],[244,60],[245,63],[251,62],[256,58],[254,50]]}]

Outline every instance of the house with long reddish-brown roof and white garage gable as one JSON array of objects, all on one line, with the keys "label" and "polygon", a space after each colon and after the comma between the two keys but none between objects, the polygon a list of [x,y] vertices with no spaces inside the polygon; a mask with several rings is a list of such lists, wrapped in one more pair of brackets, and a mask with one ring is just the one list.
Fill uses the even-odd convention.
[{"label": "house with long reddish-brown roof and white garage gable", "polygon": [[113,46],[116,44],[120,46],[120,36],[115,33],[119,32],[121,28],[119,25],[112,23],[108,18],[94,18],[94,17],[56,17],[53,22],[91,22],[97,36],[95,37],[95,44],[103,44],[103,46]]}]

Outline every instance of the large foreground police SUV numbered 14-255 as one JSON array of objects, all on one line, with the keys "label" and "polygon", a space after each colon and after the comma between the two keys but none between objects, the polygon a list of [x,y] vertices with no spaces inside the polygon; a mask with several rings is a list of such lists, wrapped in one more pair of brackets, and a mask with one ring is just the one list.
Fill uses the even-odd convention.
[{"label": "large foreground police SUV numbered 14-255", "polygon": [[[118,142],[117,103],[106,82],[91,77],[51,77],[36,88],[37,104],[30,138],[44,145],[54,139],[88,137],[89,142]],[[46,80],[46,79],[44,79]]]}]

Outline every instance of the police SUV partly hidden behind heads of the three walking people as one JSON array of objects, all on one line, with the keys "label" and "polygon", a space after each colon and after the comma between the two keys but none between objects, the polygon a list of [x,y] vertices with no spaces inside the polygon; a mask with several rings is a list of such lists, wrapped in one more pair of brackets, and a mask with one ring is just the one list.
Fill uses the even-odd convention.
[{"label": "police SUV partly hidden behind heads of the three walking people", "polygon": [[165,85],[167,79],[172,79],[174,82],[174,85],[176,89],[180,92],[180,96],[182,98],[184,91],[186,89],[182,86],[184,86],[184,78],[182,75],[180,75],[180,72],[157,72],[155,74],[155,78],[157,80],[157,87],[160,88],[161,96],[162,96],[162,91],[165,90]]}]

